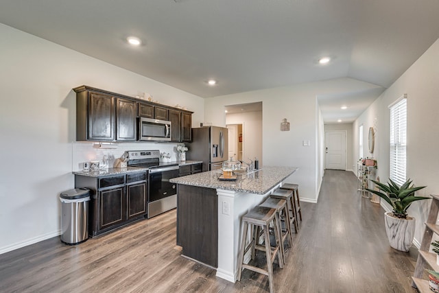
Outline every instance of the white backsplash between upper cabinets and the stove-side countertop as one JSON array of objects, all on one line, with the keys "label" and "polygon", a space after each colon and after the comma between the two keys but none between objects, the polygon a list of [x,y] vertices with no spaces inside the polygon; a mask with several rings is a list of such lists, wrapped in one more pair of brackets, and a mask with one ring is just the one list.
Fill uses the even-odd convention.
[{"label": "white backsplash between upper cabinets and the stove-side countertop", "polygon": [[82,163],[90,161],[104,161],[108,158],[108,165],[112,167],[115,159],[120,158],[127,150],[160,150],[171,155],[171,161],[178,161],[176,146],[178,143],[102,143],[99,148],[98,142],[73,141],[72,145],[72,171],[82,170]]}]

